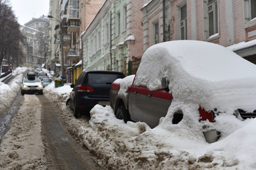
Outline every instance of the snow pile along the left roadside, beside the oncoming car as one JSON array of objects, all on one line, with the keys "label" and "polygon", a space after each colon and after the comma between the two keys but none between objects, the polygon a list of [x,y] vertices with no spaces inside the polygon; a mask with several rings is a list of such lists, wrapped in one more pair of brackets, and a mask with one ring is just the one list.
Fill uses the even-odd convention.
[{"label": "snow pile along the left roadside, beside the oncoming car", "polygon": [[23,74],[28,70],[26,67],[18,67],[14,70],[13,75],[15,79],[11,80],[8,84],[0,82],[0,109],[8,108],[11,106],[12,101],[21,90],[21,81]]}]

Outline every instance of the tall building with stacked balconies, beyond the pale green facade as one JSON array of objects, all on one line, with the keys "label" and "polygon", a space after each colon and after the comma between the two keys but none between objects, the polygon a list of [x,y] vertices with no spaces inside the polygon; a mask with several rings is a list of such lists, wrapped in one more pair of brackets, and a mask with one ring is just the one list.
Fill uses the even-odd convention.
[{"label": "tall building with stacked balconies, beyond the pale green facade", "polygon": [[[95,17],[97,11],[104,3],[105,0],[60,0],[50,1],[50,16],[51,19],[51,65],[55,67],[57,75],[60,74],[59,67],[61,66],[61,38],[63,38],[63,64],[64,64],[64,77],[68,81],[75,81],[81,73],[81,68],[78,67],[78,62],[81,59],[81,43],[80,34],[85,31],[87,26]],[[61,26],[60,26],[61,23]],[[61,29],[61,31],[60,31]],[[58,64],[58,65],[59,65]],[[75,74],[74,74],[74,66]],[[80,64],[82,65],[82,64]],[[77,69],[78,68],[78,69]]]}]

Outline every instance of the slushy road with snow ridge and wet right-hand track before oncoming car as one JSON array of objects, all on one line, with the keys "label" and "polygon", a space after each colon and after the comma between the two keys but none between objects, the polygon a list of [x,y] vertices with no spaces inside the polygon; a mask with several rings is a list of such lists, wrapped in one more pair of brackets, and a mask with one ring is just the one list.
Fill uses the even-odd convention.
[{"label": "slushy road with snow ridge and wet right-hand track before oncoming car", "polygon": [[43,95],[18,98],[20,107],[1,138],[0,169],[102,169],[65,130],[54,103]]}]

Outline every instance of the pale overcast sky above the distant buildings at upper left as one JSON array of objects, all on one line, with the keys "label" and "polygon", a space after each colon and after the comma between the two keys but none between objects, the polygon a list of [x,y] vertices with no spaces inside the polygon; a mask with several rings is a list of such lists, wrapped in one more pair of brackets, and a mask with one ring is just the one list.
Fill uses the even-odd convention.
[{"label": "pale overcast sky above the distant buildings at upper left", "polygon": [[32,18],[48,15],[49,0],[10,0],[10,2],[21,25],[31,21]]}]

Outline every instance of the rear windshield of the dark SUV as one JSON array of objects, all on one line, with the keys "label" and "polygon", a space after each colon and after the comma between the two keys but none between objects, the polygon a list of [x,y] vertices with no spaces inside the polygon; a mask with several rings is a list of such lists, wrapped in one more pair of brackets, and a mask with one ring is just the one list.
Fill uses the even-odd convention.
[{"label": "rear windshield of the dark SUV", "polygon": [[123,78],[122,74],[87,74],[88,84],[112,84],[116,79]]}]

